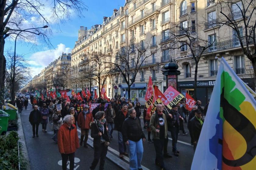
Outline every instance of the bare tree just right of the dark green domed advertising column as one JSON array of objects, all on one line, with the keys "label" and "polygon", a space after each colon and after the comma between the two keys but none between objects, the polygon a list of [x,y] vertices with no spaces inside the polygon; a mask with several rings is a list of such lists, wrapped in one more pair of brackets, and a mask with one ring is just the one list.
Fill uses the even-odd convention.
[{"label": "bare tree just right of the dark green domed advertising column", "polygon": [[[194,87],[195,87],[195,95],[194,98],[196,99],[196,89],[197,89],[197,72],[198,72],[198,63],[201,59],[201,56],[205,52],[211,52],[212,48],[215,45],[215,38],[212,40],[205,40],[204,37],[201,37],[199,34],[196,33],[196,27],[200,29],[200,24],[198,25],[190,25],[190,19],[187,20],[185,24],[177,24],[172,23],[171,29],[168,32],[168,35],[165,36],[165,47],[179,51],[180,55],[183,57],[191,57],[195,63],[195,73],[194,73]],[[212,27],[211,25],[209,27]],[[177,56],[181,57],[181,56]],[[191,73],[190,73],[191,74]],[[187,75],[190,77],[191,75]]]}]

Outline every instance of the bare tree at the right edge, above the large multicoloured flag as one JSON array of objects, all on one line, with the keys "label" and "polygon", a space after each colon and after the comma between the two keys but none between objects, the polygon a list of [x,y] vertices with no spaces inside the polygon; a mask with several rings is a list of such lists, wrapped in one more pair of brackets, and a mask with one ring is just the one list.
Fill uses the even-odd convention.
[{"label": "bare tree at the right edge, above the large multicoloured flag", "polygon": [[217,1],[220,14],[215,24],[227,26],[234,32],[234,39],[229,40],[231,46],[240,46],[244,55],[251,61],[256,89],[256,2],[255,0]]}]

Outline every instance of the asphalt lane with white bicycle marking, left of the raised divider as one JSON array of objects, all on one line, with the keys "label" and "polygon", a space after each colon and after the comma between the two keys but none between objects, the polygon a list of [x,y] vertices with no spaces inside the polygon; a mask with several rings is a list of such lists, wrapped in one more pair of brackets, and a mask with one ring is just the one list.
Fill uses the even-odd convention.
[{"label": "asphalt lane with white bicycle marking, left of the raised divider", "polygon": [[[53,131],[51,130],[51,123],[47,125],[47,133],[42,132],[42,125],[39,125],[39,137],[32,138],[32,126],[28,121],[32,106],[29,105],[27,110],[23,110],[20,115],[22,121],[23,132],[25,136],[29,163],[31,170],[58,170],[61,168],[61,154],[57,144],[51,139]],[[80,134],[79,134],[80,136]],[[89,169],[93,161],[94,151],[91,147],[80,147],[75,152],[75,170]],[[69,166],[68,166],[69,167]],[[96,167],[98,169],[99,166]],[[106,170],[119,170],[119,166],[110,160],[105,162]]]}]

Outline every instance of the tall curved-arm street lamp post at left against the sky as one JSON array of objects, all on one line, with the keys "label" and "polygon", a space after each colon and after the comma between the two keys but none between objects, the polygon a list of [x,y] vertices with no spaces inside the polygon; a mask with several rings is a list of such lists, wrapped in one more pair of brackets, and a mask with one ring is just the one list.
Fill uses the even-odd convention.
[{"label": "tall curved-arm street lamp post at left against the sky", "polygon": [[[18,36],[20,35],[20,33],[24,32],[24,31],[27,31],[27,30],[30,30],[30,29],[39,29],[39,28],[48,28],[47,25],[43,26],[43,27],[37,27],[37,28],[28,28],[28,29],[23,29],[23,30],[20,30],[20,32],[16,35],[15,37],[15,42],[14,42],[14,56],[13,56],[13,71],[12,71],[12,104],[15,104],[14,103],[14,98],[15,98],[15,92],[14,92],[14,88],[15,88],[15,62],[16,62],[16,41],[17,41],[17,38]],[[39,35],[40,33],[34,33],[34,34],[37,34]]]}]

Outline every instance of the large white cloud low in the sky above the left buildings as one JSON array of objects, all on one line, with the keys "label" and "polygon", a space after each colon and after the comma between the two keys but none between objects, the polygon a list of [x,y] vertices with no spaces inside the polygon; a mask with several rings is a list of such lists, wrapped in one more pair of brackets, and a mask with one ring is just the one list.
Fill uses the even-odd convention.
[{"label": "large white cloud low in the sky above the left buildings", "polygon": [[57,59],[62,52],[71,52],[71,48],[66,47],[65,44],[60,43],[57,48],[53,50],[39,51],[29,57],[29,64],[31,65],[31,76],[39,74],[42,69],[47,67],[52,61]]}]

